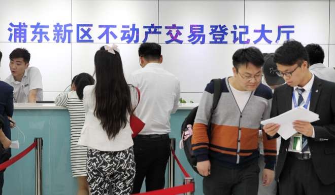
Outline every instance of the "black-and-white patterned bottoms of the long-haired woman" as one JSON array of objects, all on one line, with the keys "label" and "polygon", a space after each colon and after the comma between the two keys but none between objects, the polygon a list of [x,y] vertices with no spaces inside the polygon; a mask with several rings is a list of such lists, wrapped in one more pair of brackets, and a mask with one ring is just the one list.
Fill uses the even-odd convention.
[{"label": "black-and-white patterned bottoms of the long-haired woman", "polygon": [[132,147],[122,151],[87,151],[87,181],[92,195],[126,195],[135,178]]}]

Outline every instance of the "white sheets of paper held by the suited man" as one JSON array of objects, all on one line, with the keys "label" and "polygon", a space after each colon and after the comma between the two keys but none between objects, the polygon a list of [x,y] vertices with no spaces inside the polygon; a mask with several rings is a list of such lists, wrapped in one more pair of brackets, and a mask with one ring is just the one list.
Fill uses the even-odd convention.
[{"label": "white sheets of paper held by the suited man", "polygon": [[287,112],[284,112],[278,116],[275,116],[274,118],[267,119],[264,121],[261,121],[261,125],[266,125],[269,123],[276,123],[280,125],[280,128],[278,130],[278,134],[287,140],[292,135],[296,133],[295,129],[293,129],[293,122],[294,121],[306,121],[306,122],[315,122],[318,121],[319,114],[314,113],[308,109],[305,109],[304,107],[296,107],[294,109],[291,109]]}]

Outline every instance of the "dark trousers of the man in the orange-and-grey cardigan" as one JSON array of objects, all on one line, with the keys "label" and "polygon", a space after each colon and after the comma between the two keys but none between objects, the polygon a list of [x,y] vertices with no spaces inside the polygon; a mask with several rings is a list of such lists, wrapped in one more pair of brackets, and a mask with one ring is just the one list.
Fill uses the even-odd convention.
[{"label": "dark trousers of the man in the orange-and-grey cardigan", "polygon": [[204,177],[205,195],[257,195],[257,160],[240,168],[226,168],[211,162],[211,175]]}]

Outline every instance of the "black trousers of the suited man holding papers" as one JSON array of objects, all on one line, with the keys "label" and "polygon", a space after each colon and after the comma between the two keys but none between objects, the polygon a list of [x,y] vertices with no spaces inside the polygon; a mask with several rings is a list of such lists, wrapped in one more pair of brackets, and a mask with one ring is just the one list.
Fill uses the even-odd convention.
[{"label": "black trousers of the suited man holding papers", "polygon": [[335,184],[323,185],[316,175],[312,160],[298,160],[289,152],[279,177],[279,194],[334,195]]}]

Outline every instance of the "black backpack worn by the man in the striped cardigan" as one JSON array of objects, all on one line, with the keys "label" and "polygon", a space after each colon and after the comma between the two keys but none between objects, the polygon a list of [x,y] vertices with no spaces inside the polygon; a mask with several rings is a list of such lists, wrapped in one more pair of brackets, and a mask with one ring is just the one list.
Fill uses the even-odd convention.
[{"label": "black backpack worn by the man in the striped cardigan", "polygon": [[[208,134],[208,139],[209,140],[211,138],[212,114],[213,114],[213,111],[215,110],[215,108],[216,108],[216,106],[219,102],[220,96],[221,96],[221,79],[214,79],[212,81],[214,81],[213,106],[212,106],[212,109],[211,109],[211,116],[209,118],[209,122],[208,122],[208,125],[207,125],[207,134]],[[186,118],[185,118],[185,120],[182,124],[182,127],[181,127],[181,136],[182,136],[182,142],[183,142],[183,145],[184,145],[184,151],[185,151],[185,154],[186,154],[187,161],[191,165],[193,170],[197,174],[199,174],[197,169],[196,169],[196,158],[195,158],[195,155],[194,155],[193,150],[192,150],[192,144],[191,144],[192,136],[188,137],[185,141],[183,140],[183,133],[188,130],[187,125],[192,125],[193,126],[197,110],[198,110],[198,106],[193,108],[191,110],[191,112],[186,116]]]}]

